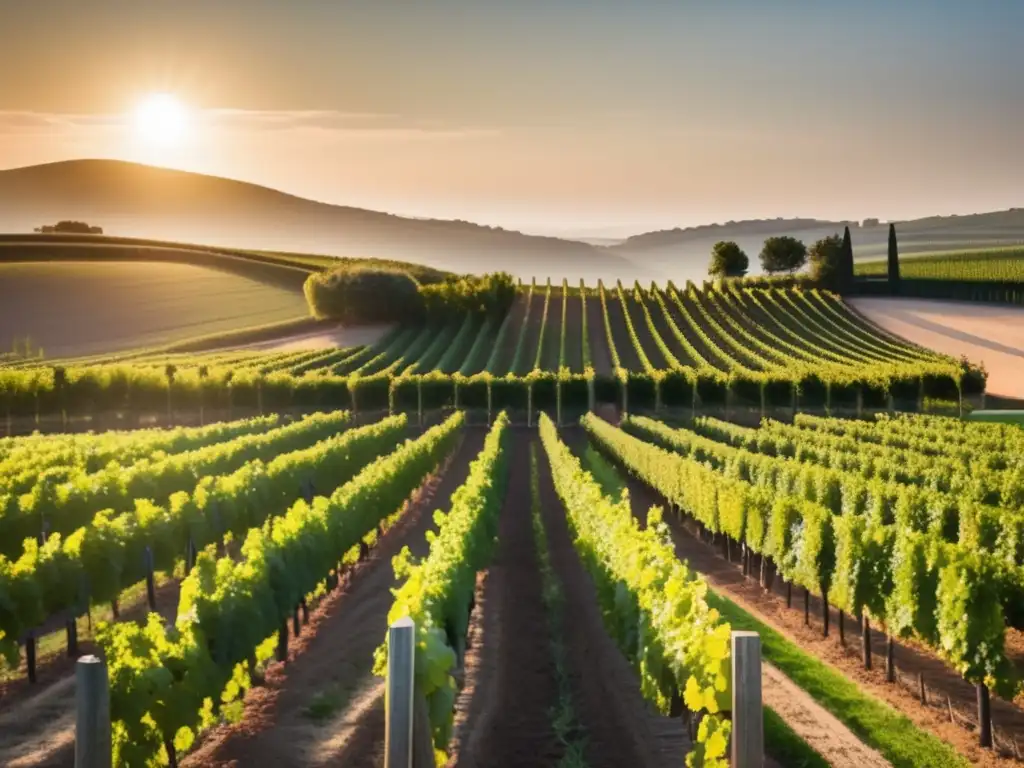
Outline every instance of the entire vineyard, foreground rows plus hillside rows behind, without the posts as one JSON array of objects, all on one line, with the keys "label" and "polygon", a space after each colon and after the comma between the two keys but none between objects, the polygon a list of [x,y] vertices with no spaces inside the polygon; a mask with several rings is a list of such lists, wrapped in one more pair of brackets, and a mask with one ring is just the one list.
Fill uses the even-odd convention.
[{"label": "entire vineyard, foreground rows plus hillside rows behind, without the posts", "polygon": [[958,359],[735,285],[325,334],[0,360],[0,764],[97,652],[117,765],[381,765],[403,616],[437,765],[721,768],[731,630],[770,766],[1015,762],[1024,432],[893,413]]}]

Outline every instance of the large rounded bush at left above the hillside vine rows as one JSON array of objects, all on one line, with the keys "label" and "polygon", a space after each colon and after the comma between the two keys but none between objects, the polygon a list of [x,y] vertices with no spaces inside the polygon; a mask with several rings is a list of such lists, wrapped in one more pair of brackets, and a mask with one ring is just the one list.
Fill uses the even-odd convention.
[{"label": "large rounded bush at left above the hillside vine rows", "polygon": [[420,286],[396,269],[342,266],[303,286],[310,313],[346,324],[409,323],[423,314]]}]

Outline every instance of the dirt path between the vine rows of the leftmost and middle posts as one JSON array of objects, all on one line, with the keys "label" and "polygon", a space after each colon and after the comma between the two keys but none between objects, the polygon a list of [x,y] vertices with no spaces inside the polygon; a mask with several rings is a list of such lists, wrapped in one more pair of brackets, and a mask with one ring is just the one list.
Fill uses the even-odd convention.
[{"label": "dirt path between the vine rows of the leftmost and middle posts", "polygon": [[372,668],[374,649],[387,631],[390,590],[397,586],[391,558],[403,546],[416,556],[425,554],[432,513],[447,507],[483,435],[467,430],[446,469],[427,483],[345,585],[311,613],[289,648],[288,663],[271,665],[265,685],[249,692],[242,722],[215,728],[182,766],[377,764],[383,684]]}]

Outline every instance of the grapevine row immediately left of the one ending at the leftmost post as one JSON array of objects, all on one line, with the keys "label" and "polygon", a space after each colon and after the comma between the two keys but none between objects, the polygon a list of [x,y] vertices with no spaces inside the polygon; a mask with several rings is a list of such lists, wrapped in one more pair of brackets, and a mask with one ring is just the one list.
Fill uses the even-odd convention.
[{"label": "grapevine row immediately left of the one ending at the leftmost post", "polygon": [[138,499],[132,511],[100,512],[67,539],[51,537],[42,547],[30,542],[16,562],[0,557],[0,594],[10,598],[0,613],[0,652],[10,660],[18,638],[48,616],[74,616],[89,603],[113,602],[148,568],[171,571],[177,561],[187,562],[189,551],[219,544],[227,534],[244,536],[284,514],[301,494],[332,492],[391,451],[406,425],[406,417],[390,417],[266,464],[252,461],[229,474],[204,477],[165,505]]}]

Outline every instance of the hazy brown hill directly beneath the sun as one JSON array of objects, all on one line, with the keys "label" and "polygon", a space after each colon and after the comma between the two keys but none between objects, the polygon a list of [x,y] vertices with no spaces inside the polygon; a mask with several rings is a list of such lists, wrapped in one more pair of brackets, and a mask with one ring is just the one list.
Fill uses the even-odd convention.
[{"label": "hazy brown hill directly beneath the sun", "polygon": [[134,163],[76,160],[0,171],[0,231],[31,232],[68,218],[114,236],[398,259],[458,272],[505,269],[525,280],[637,272],[621,256],[586,243],[328,205]]}]

